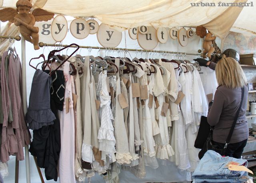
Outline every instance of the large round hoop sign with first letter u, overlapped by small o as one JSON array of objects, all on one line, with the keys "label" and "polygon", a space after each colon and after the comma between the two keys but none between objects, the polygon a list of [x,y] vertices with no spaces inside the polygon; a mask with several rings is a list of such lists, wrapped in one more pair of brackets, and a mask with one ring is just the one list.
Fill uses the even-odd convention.
[{"label": "large round hoop sign with first letter u, overlapped by small o", "polygon": [[140,32],[138,33],[138,44],[140,45],[141,48],[145,50],[153,50],[156,48],[158,44],[158,39],[156,36],[156,29],[154,27],[147,27],[148,28],[148,33],[146,34],[141,34]]}]

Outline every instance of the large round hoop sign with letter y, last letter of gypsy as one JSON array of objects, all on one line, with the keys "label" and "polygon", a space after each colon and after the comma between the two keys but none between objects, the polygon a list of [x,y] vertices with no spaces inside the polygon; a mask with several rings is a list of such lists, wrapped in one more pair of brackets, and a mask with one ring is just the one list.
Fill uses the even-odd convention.
[{"label": "large round hoop sign with letter y, last letter of gypsy", "polygon": [[122,32],[118,32],[105,24],[100,24],[97,39],[101,46],[115,48],[122,40]]}]

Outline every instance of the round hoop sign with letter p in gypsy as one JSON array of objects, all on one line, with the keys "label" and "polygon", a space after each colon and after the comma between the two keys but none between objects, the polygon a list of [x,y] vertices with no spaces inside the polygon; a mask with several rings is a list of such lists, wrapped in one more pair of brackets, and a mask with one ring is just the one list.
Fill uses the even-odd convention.
[{"label": "round hoop sign with letter p in gypsy", "polygon": [[77,39],[84,39],[90,33],[90,26],[86,20],[82,18],[74,19],[70,24],[70,32]]}]

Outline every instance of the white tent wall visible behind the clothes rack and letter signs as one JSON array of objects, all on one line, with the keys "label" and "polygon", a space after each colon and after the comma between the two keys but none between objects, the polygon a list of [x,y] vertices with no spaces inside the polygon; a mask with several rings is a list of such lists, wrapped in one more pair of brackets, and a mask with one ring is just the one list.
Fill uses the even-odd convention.
[{"label": "white tent wall visible behind the clothes rack and letter signs", "polygon": [[[68,24],[70,24],[70,20],[68,21]],[[220,40],[217,41],[220,42]],[[62,44],[72,44],[76,43],[80,46],[99,46],[101,45],[98,43],[97,36],[96,34],[90,34],[87,38],[83,40],[78,40],[72,36],[70,32],[68,32],[66,38],[63,40]],[[58,44],[58,43],[57,43]],[[173,51],[173,52],[187,52],[187,53],[198,53],[198,50],[201,49],[201,39],[198,36],[194,36],[194,38],[189,39],[188,45],[186,47],[180,46],[178,43],[178,40],[172,40],[170,37],[168,38],[168,42],[166,44],[158,44],[158,46],[154,50],[161,50],[161,51]],[[15,42],[14,44],[17,53],[21,57],[21,42]],[[128,32],[122,32],[122,41],[121,43],[117,46],[117,48],[132,48],[132,49],[142,49],[138,45],[137,40],[132,40]],[[32,84],[32,79],[34,76],[35,70],[29,66],[29,61],[31,58],[38,57],[40,54],[44,53],[44,55],[48,56],[48,53],[50,50],[54,50],[56,48],[54,47],[45,47],[45,48],[40,48],[40,50],[34,50],[33,45],[30,44],[29,42],[26,42],[26,83],[27,83],[27,101],[29,101],[29,95],[30,95],[30,90],[31,90],[31,84]],[[74,51],[74,48],[69,48],[68,53],[70,54]],[[105,50],[92,50],[90,53],[91,55],[102,55],[104,56],[105,53],[107,55],[111,56],[118,56],[117,51],[105,51]],[[82,56],[88,55],[88,49],[80,49],[77,52],[78,54],[81,54]],[[136,55],[136,52],[129,52],[132,57]],[[126,54],[126,56],[130,57],[129,53]],[[61,54],[66,54],[66,50],[61,52]],[[137,52],[137,57],[140,58],[146,58],[148,57],[148,54],[143,52]],[[154,58],[158,58],[159,54],[158,53],[151,53],[151,56]],[[172,54],[168,54],[169,58],[172,58]],[[198,56],[190,56],[187,55],[188,60],[192,60],[194,58],[198,58]],[[38,61],[38,62],[41,62]],[[36,60],[32,62],[32,65],[36,66],[38,63]],[[31,131],[32,133],[32,131]],[[160,165],[161,163],[159,163]],[[9,170],[9,175],[4,178],[4,183],[13,183],[14,182],[14,177],[15,177],[15,157],[10,156],[10,160],[8,161],[8,170]],[[19,183],[26,183],[26,169],[25,169],[25,161],[20,161],[20,168],[19,168]],[[160,165],[158,169],[151,169],[149,167],[146,167],[147,169],[147,175],[145,179],[138,179],[134,175],[132,175],[128,171],[122,171],[120,174],[120,182],[125,183],[125,182],[130,182],[130,183],[144,183],[144,182],[179,182],[179,181],[184,181],[186,180],[186,173],[179,171],[174,163],[170,163],[170,165]],[[53,183],[54,181],[46,181],[45,176],[44,176],[44,169],[42,170],[42,174],[44,177],[44,180],[46,183]],[[34,163],[34,159],[32,155],[30,155],[30,175],[31,175],[31,183],[40,183],[40,177],[38,175],[36,165]],[[95,176],[92,179],[92,183],[102,183],[104,180],[100,176]]]}]

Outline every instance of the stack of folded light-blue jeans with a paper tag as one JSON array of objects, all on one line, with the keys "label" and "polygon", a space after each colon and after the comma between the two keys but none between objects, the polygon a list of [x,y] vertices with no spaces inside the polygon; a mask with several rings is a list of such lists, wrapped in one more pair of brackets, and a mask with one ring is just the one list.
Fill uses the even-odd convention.
[{"label": "stack of folded light-blue jeans with a paper tag", "polygon": [[215,151],[208,150],[200,160],[192,177],[193,183],[250,183],[252,177],[246,171],[231,171],[229,164],[247,166],[245,159],[222,157]]}]

